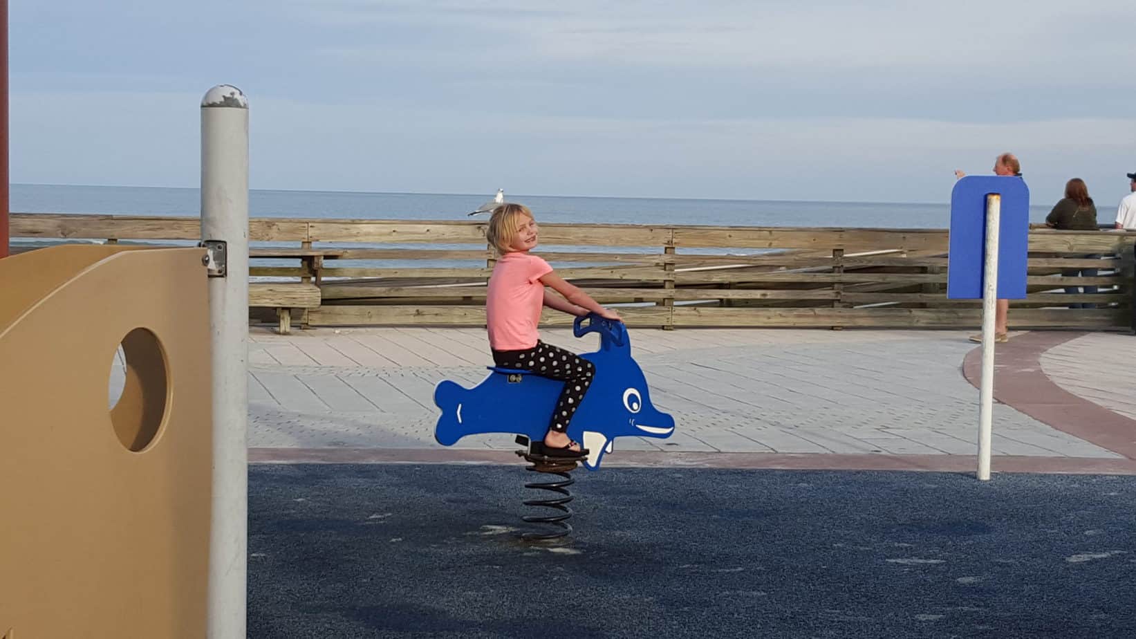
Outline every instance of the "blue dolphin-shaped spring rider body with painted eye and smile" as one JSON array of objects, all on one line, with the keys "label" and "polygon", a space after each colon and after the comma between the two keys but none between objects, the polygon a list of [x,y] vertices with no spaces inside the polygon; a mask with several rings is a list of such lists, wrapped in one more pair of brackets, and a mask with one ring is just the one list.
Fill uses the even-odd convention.
[{"label": "blue dolphin-shaped spring rider body with painted eye and smile", "polygon": [[[577,317],[577,338],[600,333],[600,350],[580,355],[595,365],[595,377],[579,408],[568,423],[568,437],[590,450],[584,466],[600,467],[617,437],[668,438],[675,418],[651,404],[646,380],[632,359],[632,343],[623,322],[588,315],[587,325]],[[434,404],[442,409],[434,439],[453,446],[468,434],[517,433],[533,441],[544,439],[563,382],[528,371],[490,367],[492,373],[476,388],[443,381],[434,389]]]}]

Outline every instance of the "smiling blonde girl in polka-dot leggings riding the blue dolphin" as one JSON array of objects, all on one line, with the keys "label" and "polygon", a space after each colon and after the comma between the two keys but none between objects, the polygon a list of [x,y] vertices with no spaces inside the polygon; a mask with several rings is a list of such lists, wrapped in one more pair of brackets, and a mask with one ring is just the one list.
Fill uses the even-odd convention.
[{"label": "smiling blonde girl in polka-dot leggings riding the blue dolphin", "polygon": [[548,262],[528,252],[536,247],[536,221],[527,207],[504,204],[493,209],[485,236],[501,254],[485,298],[493,362],[503,368],[532,371],[542,377],[565,382],[549,432],[543,442],[534,442],[533,450],[549,457],[586,456],[587,449],[571,441],[567,429],[592,384],[595,367],[574,352],[542,342],[536,325],[544,306],[580,317],[595,313],[608,320],[619,320],[619,315],[565,282],[552,272]]}]

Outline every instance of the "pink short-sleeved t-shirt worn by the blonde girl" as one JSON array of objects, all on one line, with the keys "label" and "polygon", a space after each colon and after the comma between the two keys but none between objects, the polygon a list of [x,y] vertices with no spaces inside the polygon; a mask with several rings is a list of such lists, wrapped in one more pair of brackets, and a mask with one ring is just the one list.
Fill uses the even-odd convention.
[{"label": "pink short-sleeved t-shirt worn by the blonde girl", "polygon": [[541,277],[549,273],[549,263],[528,252],[507,252],[498,259],[485,297],[490,348],[523,350],[536,346],[536,326],[544,307]]}]

